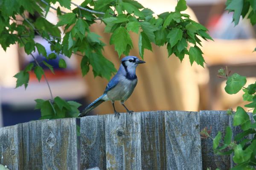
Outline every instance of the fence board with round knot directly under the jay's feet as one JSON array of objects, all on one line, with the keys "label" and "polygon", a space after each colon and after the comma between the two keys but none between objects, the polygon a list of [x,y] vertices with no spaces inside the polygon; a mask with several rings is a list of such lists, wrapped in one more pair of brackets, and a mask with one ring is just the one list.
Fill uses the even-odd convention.
[{"label": "fence board with round knot directly under the jay's feet", "polygon": [[121,113],[119,119],[106,115],[106,168],[141,170],[140,113]]}]

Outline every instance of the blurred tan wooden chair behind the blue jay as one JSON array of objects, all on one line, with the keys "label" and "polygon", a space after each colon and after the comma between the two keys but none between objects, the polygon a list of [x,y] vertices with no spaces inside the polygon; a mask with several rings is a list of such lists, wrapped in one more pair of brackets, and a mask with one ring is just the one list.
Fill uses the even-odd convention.
[{"label": "blurred tan wooden chair behind the blue jay", "polygon": [[[177,4],[176,0],[159,0],[157,2],[154,0],[139,0],[139,2],[156,14],[174,11]],[[191,9],[188,8],[184,13],[189,14],[192,20],[196,20]],[[120,59],[114,51],[113,45],[109,45],[111,34],[104,33],[104,28],[105,25],[98,22],[93,24],[90,30],[102,36],[102,41],[107,44],[104,48],[104,56],[113,62],[118,69]],[[139,57],[138,34],[131,33],[131,39],[134,49],[130,51],[130,55]],[[198,111],[199,85],[207,84],[207,70],[195,63],[191,66],[188,56],[185,56],[182,63],[174,55],[168,58],[166,46],[157,47],[152,44],[152,48],[153,52],[145,50],[144,60],[146,63],[137,68],[137,87],[125,102],[127,107],[133,111]],[[93,101],[100,96],[108,83],[106,79],[94,78],[92,70],[85,76],[85,81],[90,89],[88,92],[89,101]],[[116,109],[125,112],[118,101],[116,102]],[[94,113],[113,113],[111,102],[104,102],[95,109]]]}]

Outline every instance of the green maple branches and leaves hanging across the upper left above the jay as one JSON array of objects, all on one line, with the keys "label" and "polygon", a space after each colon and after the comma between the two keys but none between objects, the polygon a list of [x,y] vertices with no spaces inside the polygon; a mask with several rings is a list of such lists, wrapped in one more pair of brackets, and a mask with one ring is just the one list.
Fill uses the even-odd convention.
[{"label": "green maple branches and leaves hanging across the upper left above the jay", "polygon": [[[83,8],[77,7],[72,11],[70,10],[71,0],[46,0],[45,2],[0,0],[0,45],[6,50],[9,45],[18,43],[20,47],[24,47],[28,55],[38,51],[46,59],[42,64],[47,66],[53,74],[54,69],[48,61],[56,59],[60,54],[68,58],[72,54],[80,55],[83,76],[90,68],[95,77],[100,76],[106,79],[110,79],[116,72],[113,63],[102,54],[105,44],[101,41],[101,37],[90,30],[90,26],[96,23],[95,20],[105,23],[105,32],[111,34],[109,43],[114,45],[119,57],[122,54],[128,55],[134,47],[130,37],[130,31],[132,31],[139,34],[138,47],[142,58],[144,50],[152,51],[152,43],[154,43],[158,46],[165,45],[169,56],[175,54],[182,61],[187,54],[191,64],[196,62],[204,66],[203,53],[199,48],[200,37],[204,40],[212,40],[212,38],[207,34],[207,28],[191,20],[188,14],[181,14],[181,11],[187,8],[186,0],[179,0],[175,11],[164,12],[157,17],[153,16],[154,12],[151,9],[144,8],[135,0],[84,0],[80,4]],[[57,24],[52,24],[46,20],[46,16],[51,4],[57,2],[69,12],[61,11],[60,6],[56,7],[56,17],[59,21]],[[34,17],[27,18],[25,12]],[[16,19],[17,16],[23,19],[20,21],[20,17]],[[61,35],[60,28],[64,29],[64,35]],[[35,35],[46,40],[51,51],[46,51],[44,45],[35,42]],[[188,43],[191,44],[190,49],[188,49]],[[29,57],[34,56],[32,54]],[[60,68],[67,67],[66,59],[59,60]],[[29,64],[14,76],[17,78],[16,87],[28,86],[30,71],[34,71],[38,81],[41,81],[44,70],[35,59],[35,64]],[[59,98],[36,100],[36,102],[36,107],[41,109],[42,119],[61,118],[67,116],[72,108],[77,108],[77,105],[71,107],[69,102],[67,102],[70,105],[69,108],[62,107],[60,102],[64,103],[64,101]]]}]

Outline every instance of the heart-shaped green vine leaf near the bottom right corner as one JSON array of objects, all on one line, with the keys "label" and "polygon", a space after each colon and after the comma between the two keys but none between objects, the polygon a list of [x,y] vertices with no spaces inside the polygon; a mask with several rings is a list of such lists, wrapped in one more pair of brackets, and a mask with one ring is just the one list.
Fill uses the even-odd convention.
[{"label": "heart-shaped green vine leaf near the bottom right corner", "polygon": [[243,150],[241,144],[238,144],[234,148],[233,161],[235,163],[246,162],[250,159],[252,153],[253,153],[253,150],[251,150],[250,147],[247,147],[245,150]]}]

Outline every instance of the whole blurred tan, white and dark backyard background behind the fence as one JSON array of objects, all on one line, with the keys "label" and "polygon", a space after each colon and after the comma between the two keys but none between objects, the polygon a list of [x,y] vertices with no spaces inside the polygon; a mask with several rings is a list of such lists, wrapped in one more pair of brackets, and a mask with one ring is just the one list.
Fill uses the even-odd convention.
[{"label": "whole blurred tan, white and dark backyard background behind the fence", "polygon": [[[73,1],[78,4],[82,2],[81,0]],[[177,3],[177,0],[138,1],[146,8],[151,8],[155,14],[174,11]],[[256,47],[256,28],[251,26],[249,20],[240,20],[239,25],[234,27],[233,14],[228,14],[224,10],[226,0],[186,1],[189,8],[184,13],[189,14],[192,20],[197,20],[206,26],[214,39],[214,41],[203,42],[201,48],[207,63],[205,68],[195,63],[191,66],[188,56],[185,56],[182,63],[175,56],[168,58],[166,47],[153,45],[153,52],[145,50],[146,64],[137,68],[137,87],[125,102],[130,110],[227,110],[244,105],[242,92],[236,95],[226,94],[225,79],[218,78],[216,75],[219,68],[227,65],[231,74],[236,72],[249,77],[247,84],[256,81],[256,52],[252,52]],[[75,6],[72,7],[75,8]],[[50,9],[47,20],[54,24],[58,22],[54,10]],[[113,45],[109,45],[110,34],[104,33],[104,27],[103,23],[98,22],[91,26],[90,30],[102,36],[102,41],[106,44],[104,55],[118,69],[120,59]],[[130,55],[140,56],[137,47],[138,35],[131,33],[131,37],[134,49],[130,51]],[[36,37],[35,41],[43,44],[47,52],[50,52],[49,44],[42,38]],[[34,55],[38,60],[44,59],[37,51]],[[101,77],[94,78],[91,70],[82,77],[80,56],[74,55],[71,59],[64,57],[67,68],[58,68],[58,60],[62,57],[64,56],[58,56],[57,59],[49,62],[54,66],[55,74],[44,68],[52,94],[66,100],[80,102],[83,105],[80,107],[82,110],[102,95],[108,81]],[[32,57],[27,56],[17,45],[11,45],[6,52],[0,47],[0,127],[39,119],[40,111],[34,110],[34,100],[50,98],[44,78],[42,77],[39,83],[33,73],[30,73],[26,91],[23,86],[15,88],[16,78],[13,76],[29,62],[32,62]],[[117,111],[125,112],[118,101],[115,105]],[[104,102],[90,114],[105,113],[113,113],[111,102]]]}]

